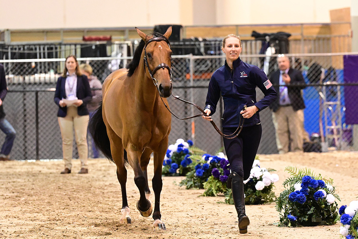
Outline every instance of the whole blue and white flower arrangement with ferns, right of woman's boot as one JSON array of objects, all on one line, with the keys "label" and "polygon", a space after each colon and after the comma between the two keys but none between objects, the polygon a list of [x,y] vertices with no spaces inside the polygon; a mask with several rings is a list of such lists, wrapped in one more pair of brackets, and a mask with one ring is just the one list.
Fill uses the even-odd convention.
[{"label": "whole blue and white flower arrangement with ferns, right of woman's boot", "polygon": [[338,215],[339,196],[335,194],[332,178],[328,180],[310,169],[287,167],[291,177],[283,183],[285,190],[276,201],[280,226],[332,225]]}]

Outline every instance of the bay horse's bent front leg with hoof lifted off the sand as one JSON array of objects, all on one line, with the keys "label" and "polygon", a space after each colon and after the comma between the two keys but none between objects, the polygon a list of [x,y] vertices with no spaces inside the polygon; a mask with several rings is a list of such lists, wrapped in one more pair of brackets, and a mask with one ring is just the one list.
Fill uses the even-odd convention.
[{"label": "bay horse's bent front leg with hoof lifted off the sand", "polygon": [[[137,209],[144,217],[152,214],[153,208],[151,202],[146,198],[147,179],[140,166],[140,157],[142,150],[138,150],[134,145],[127,147],[128,162],[134,171],[134,182],[139,189],[140,198],[137,201]],[[150,192],[149,192],[150,193]]]}]

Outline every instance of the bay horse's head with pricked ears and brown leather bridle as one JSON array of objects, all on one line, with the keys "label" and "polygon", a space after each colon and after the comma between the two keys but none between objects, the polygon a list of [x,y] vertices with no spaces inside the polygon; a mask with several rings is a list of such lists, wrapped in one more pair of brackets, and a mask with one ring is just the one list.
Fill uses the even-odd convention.
[{"label": "bay horse's head with pricked ears and brown leather bridle", "polygon": [[171,34],[171,27],[166,30],[164,37],[155,37],[155,35],[146,35],[138,28],[139,36],[144,40],[145,47],[142,57],[145,61],[145,73],[152,79],[158,87],[159,94],[162,97],[169,97],[173,85],[171,84],[171,50],[168,38]]}]

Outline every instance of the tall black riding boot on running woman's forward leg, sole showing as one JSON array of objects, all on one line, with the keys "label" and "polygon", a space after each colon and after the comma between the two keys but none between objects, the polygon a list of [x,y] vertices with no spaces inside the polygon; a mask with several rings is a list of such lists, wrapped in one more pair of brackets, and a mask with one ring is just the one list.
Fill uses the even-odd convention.
[{"label": "tall black riding boot on running woman's forward leg, sole showing", "polygon": [[247,233],[247,226],[250,225],[250,220],[245,214],[244,179],[236,172],[231,173],[231,178],[232,198],[239,218],[239,230],[241,234],[245,234]]}]

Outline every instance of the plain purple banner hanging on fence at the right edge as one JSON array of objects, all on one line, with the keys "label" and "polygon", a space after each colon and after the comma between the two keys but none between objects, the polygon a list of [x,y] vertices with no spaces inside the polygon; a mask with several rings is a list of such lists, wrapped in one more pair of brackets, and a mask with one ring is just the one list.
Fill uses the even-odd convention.
[{"label": "plain purple banner hanging on fence at the right edge", "polygon": [[[344,83],[358,83],[358,56],[343,57]],[[358,124],[358,86],[344,87],[345,123]]]}]

